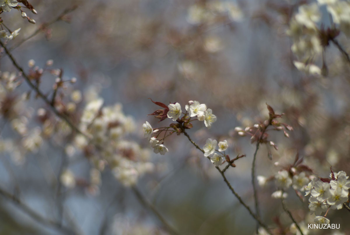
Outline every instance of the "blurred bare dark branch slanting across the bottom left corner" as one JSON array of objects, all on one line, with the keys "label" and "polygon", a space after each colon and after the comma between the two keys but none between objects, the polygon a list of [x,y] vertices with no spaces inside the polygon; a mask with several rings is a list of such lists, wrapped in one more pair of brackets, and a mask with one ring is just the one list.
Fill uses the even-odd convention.
[{"label": "blurred bare dark branch slanting across the bottom left corner", "polygon": [[31,218],[36,220],[38,223],[41,223],[42,225],[55,228],[59,231],[61,231],[64,234],[75,234],[73,231],[71,231],[69,228],[62,226],[60,223],[52,220],[48,220],[35,212],[33,209],[31,209],[29,206],[24,204],[20,199],[18,199],[15,195],[3,190],[0,188],[0,194],[11,200],[14,204],[16,204],[23,212],[25,212],[27,215],[29,215]]}]

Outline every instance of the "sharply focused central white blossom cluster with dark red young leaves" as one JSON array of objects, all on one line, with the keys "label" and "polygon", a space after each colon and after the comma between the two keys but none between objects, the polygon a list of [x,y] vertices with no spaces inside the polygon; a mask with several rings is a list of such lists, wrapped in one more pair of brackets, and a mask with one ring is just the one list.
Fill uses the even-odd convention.
[{"label": "sharply focused central white blossom cluster with dark red young leaves", "polygon": [[[181,110],[181,106],[179,103],[169,104],[168,106],[161,103],[152,102],[164,109],[158,109],[149,115],[156,115],[155,118],[160,119],[159,122],[165,120],[166,118],[170,118],[176,123],[171,123],[168,127],[160,127],[153,129],[151,124],[146,121],[142,125],[144,131],[144,137],[149,139],[149,143],[153,148],[153,151],[158,154],[164,155],[168,152],[168,148],[164,145],[164,140],[166,137],[172,135],[173,133],[177,133],[180,135],[184,129],[190,129],[193,127],[192,121],[204,121],[204,125],[209,129],[211,124],[216,121],[216,116],[212,114],[212,110],[207,108],[205,104],[200,104],[198,101],[189,101],[188,105],[185,106],[186,112],[183,113]],[[183,117],[180,116],[183,114]],[[169,129],[172,130],[169,130]],[[167,132],[169,133],[167,134]],[[160,137],[160,134],[164,132],[163,137]],[[155,137],[152,135],[155,134]]]}]

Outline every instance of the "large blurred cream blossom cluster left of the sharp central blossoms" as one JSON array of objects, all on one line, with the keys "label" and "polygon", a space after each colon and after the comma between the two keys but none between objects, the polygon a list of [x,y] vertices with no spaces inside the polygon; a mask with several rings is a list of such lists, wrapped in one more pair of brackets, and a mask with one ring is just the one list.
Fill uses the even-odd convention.
[{"label": "large blurred cream blossom cluster left of the sharp central blossoms", "polygon": [[74,147],[84,152],[94,167],[91,182],[99,182],[97,172],[109,165],[122,184],[135,185],[139,177],[154,169],[149,150],[125,138],[134,132],[135,124],[131,116],[125,116],[121,104],[103,107],[103,102],[96,97],[86,104],[79,124],[85,135],[75,137]]}]

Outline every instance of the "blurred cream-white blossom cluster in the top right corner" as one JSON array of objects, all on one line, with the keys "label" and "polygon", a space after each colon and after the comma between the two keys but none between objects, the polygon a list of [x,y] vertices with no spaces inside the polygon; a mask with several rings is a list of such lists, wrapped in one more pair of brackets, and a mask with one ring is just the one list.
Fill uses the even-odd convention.
[{"label": "blurred cream-white blossom cluster in the top right corner", "polygon": [[[326,6],[331,27],[324,29],[321,7]],[[292,51],[299,61],[294,61],[295,67],[307,74],[324,75],[323,71],[313,61],[329,45],[329,41],[342,32],[350,37],[350,3],[342,0],[317,0],[299,7],[298,12],[289,22],[287,34],[292,38]],[[325,67],[322,69],[326,69]]]}]

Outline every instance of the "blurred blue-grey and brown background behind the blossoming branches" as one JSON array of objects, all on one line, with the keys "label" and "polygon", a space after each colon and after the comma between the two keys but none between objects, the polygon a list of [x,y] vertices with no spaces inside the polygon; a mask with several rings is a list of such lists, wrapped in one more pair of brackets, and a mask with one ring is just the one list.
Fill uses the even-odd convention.
[{"label": "blurred blue-grey and brown background behind the blossoming branches", "polygon": [[[148,98],[165,104],[179,102],[183,111],[189,100],[212,109],[217,116],[212,128],[208,130],[203,122],[197,122],[188,133],[200,146],[207,138],[226,139],[227,154],[246,154],[236,162],[236,168],[226,171],[226,176],[252,208],[250,170],[255,144],[250,144],[248,136],[238,136],[234,128],[268,119],[266,102],[276,113],[285,113],[282,121],[294,131],[289,138],[281,132],[269,133],[269,140],[279,149],[261,145],[256,175],[274,175],[281,165],[292,164],[297,152],[320,177],[329,176],[331,165],[334,171],[350,173],[350,66],[337,48],[330,46],[324,53],[327,76],[307,75],[294,67],[286,30],[304,2],[33,0],[30,3],[38,14],[27,14],[36,24],[29,24],[15,9],[1,17],[7,27],[21,27],[20,35],[7,44],[12,48],[43,23],[77,5],[63,20],[50,24],[12,51],[19,64],[30,71],[35,67],[28,67],[29,60],[43,68],[52,59],[52,68],[64,71],[63,80],[76,78],[76,83],[62,89],[60,99],[67,103],[65,99],[70,99],[73,91],[81,91],[83,98],[76,102],[74,112],[78,117],[97,97],[103,98],[103,106],[119,104],[134,123],[134,131],[128,131],[124,139],[137,142],[153,166],[151,172],[138,178],[136,187],[180,234],[244,235],[254,234],[255,221],[233,197],[212,163],[185,136],[167,138],[169,152],[164,156],[152,152],[143,138],[142,124],[148,121],[155,128],[171,121],[158,123],[158,119],[147,116],[158,109]],[[339,35],[338,41],[349,48],[344,35]],[[315,63],[322,67],[322,60]],[[3,51],[0,70],[5,87],[16,69]],[[51,94],[56,77],[54,71],[41,77],[44,94]],[[23,82],[2,96],[2,109],[9,102],[9,94],[16,97],[16,105],[9,107],[14,109],[8,111],[11,115],[1,116],[1,188],[45,218],[76,226],[81,234],[168,234],[133,190],[116,179],[112,168],[99,169],[96,164],[101,162],[77,150],[70,140],[62,141],[67,135],[55,129],[63,128],[60,123],[55,122],[54,130],[45,134],[48,126],[40,119],[40,112],[51,112],[50,108],[29,90]],[[28,131],[18,131],[21,123]],[[23,139],[36,130],[40,146],[28,150]],[[92,168],[98,169],[95,178]],[[273,183],[258,188],[261,217],[272,227],[278,218],[287,228],[292,222],[280,200],[271,198],[275,190]],[[307,199],[300,201],[292,189],[288,193],[286,204],[295,219],[313,221]],[[6,198],[0,197],[0,206],[0,234],[62,234],[35,222]],[[347,213],[332,210],[328,214],[332,223],[340,223],[341,231],[337,232],[341,234],[350,234]],[[315,230],[309,234],[331,232]]]}]

